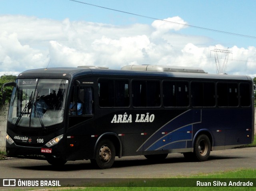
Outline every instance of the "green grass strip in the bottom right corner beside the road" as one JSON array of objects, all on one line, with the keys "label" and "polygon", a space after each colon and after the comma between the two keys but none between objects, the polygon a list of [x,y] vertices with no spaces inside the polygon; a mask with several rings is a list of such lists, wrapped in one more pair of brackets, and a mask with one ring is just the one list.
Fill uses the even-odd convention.
[{"label": "green grass strip in the bottom right corner beside the road", "polygon": [[[198,187],[196,181],[211,182],[212,187]],[[213,181],[226,182],[225,187],[216,187]],[[231,187],[231,182],[252,182],[254,187]],[[177,186],[178,187],[175,187]],[[191,186],[192,185],[192,186]],[[121,179],[111,183],[95,183],[84,187],[52,188],[51,191],[248,191],[256,190],[256,169],[242,169],[237,171],[200,174],[189,177],[172,177],[171,179]],[[191,186],[191,187],[186,187]]]}]

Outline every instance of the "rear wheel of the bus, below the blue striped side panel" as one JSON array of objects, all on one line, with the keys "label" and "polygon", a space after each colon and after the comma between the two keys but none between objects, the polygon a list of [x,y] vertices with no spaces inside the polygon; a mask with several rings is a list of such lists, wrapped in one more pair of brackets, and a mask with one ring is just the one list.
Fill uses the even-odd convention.
[{"label": "rear wheel of the bus, below the blue striped side panel", "polygon": [[211,152],[211,143],[208,136],[201,134],[196,138],[194,145],[194,155],[198,161],[206,161]]}]

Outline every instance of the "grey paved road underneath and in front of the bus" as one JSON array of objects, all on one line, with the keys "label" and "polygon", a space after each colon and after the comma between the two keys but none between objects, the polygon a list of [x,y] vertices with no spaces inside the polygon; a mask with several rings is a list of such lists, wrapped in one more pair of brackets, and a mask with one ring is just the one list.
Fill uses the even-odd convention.
[{"label": "grey paved road underneath and in front of the bus", "polygon": [[57,169],[47,161],[6,159],[0,161],[0,169],[0,178],[160,178],[256,169],[256,148],[213,151],[205,162],[188,162],[182,154],[169,154],[160,163],[136,156],[116,158],[111,169],[96,170],[90,161],[68,161]]}]

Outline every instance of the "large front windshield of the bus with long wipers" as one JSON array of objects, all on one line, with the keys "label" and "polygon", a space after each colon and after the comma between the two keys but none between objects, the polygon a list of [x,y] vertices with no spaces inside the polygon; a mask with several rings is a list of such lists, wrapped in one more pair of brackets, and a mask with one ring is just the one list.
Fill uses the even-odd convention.
[{"label": "large front windshield of the bus with long wipers", "polygon": [[8,122],[14,127],[42,127],[61,123],[68,80],[17,79]]}]

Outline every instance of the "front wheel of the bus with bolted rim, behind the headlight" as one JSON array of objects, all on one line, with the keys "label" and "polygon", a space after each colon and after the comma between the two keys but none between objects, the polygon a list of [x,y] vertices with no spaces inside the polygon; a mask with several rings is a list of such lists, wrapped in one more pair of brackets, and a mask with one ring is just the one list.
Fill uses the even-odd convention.
[{"label": "front wheel of the bus with bolted rim, behind the headlight", "polygon": [[96,159],[91,159],[92,165],[100,169],[112,167],[116,156],[116,149],[110,140],[100,140],[96,148]]}]

